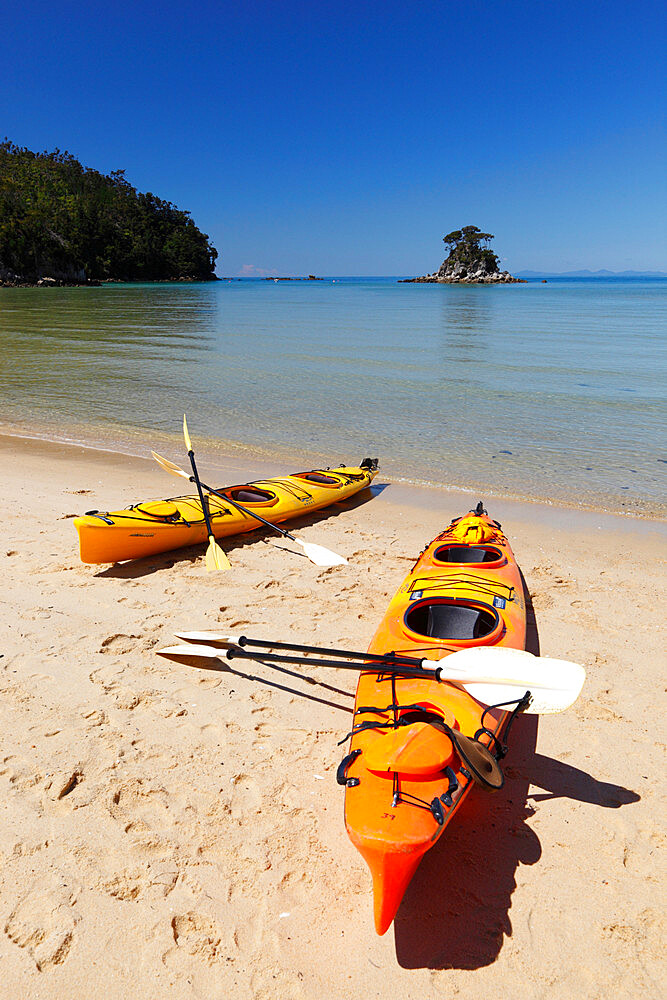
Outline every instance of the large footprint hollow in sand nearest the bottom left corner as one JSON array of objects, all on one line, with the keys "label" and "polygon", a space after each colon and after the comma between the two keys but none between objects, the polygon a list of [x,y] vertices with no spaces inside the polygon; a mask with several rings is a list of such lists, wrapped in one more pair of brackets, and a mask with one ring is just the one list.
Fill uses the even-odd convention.
[{"label": "large footprint hollow in sand nearest the bottom left corner", "polygon": [[40,882],[10,914],[5,934],[17,947],[25,948],[40,972],[62,965],[74,941],[79,921],[75,910],[77,888],[67,876]]}]

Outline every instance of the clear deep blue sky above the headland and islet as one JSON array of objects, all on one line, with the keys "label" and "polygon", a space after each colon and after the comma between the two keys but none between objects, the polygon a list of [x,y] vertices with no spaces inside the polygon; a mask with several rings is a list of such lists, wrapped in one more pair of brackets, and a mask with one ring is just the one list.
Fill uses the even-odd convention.
[{"label": "clear deep blue sky above the headland and islet", "polygon": [[219,274],[667,270],[664,5],[23,0],[0,135],[125,168]]}]

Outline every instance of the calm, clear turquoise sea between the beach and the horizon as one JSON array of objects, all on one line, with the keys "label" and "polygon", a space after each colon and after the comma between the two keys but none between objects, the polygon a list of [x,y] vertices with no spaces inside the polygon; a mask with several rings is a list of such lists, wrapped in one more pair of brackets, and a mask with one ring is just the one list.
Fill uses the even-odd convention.
[{"label": "calm, clear turquoise sea between the beach and the horizon", "polygon": [[655,279],[0,289],[0,430],[664,514],[666,330]]}]

